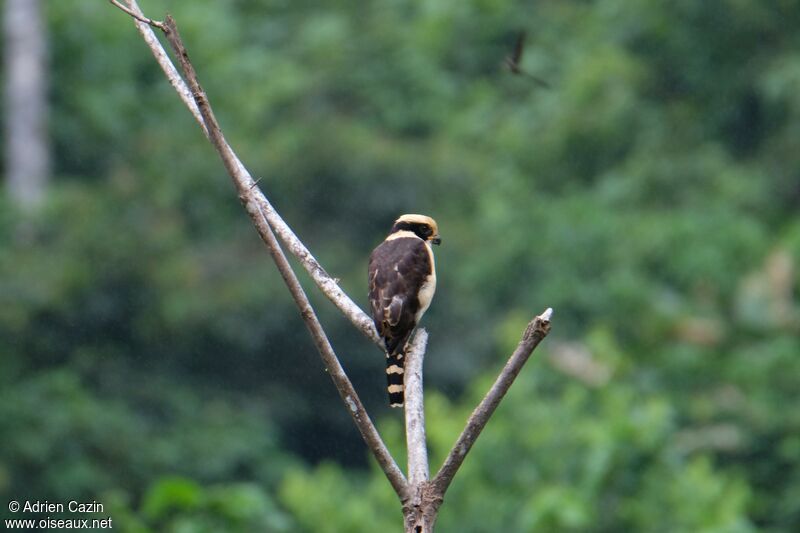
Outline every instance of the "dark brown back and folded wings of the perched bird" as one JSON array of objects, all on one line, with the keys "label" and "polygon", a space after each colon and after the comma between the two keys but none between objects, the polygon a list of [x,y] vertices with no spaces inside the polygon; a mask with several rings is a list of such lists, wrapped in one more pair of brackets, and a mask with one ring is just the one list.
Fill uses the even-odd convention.
[{"label": "dark brown back and folded wings of the perched bird", "polygon": [[369,259],[369,302],[375,328],[389,355],[401,353],[416,326],[419,291],[431,273],[425,243],[417,237],[383,241]]}]

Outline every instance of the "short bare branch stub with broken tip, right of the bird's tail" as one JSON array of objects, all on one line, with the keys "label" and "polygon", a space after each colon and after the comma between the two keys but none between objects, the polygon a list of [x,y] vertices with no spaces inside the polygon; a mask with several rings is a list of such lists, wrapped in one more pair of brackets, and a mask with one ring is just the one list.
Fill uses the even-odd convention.
[{"label": "short bare branch stub with broken tip, right of the bird's tail", "polygon": [[534,318],[530,324],[528,324],[522,336],[522,340],[517,345],[514,353],[511,354],[508,363],[506,363],[506,366],[503,368],[502,372],[500,372],[494,385],[492,385],[492,388],[486,393],[486,396],[484,396],[481,403],[478,404],[478,407],[472,411],[469,420],[467,420],[467,426],[464,428],[464,431],[461,432],[458,440],[456,440],[456,443],[453,445],[453,449],[450,450],[450,453],[447,455],[442,468],[439,469],[436,477],[434,477],[431,482],[436,492],[441,497],[444,497],[444,493],[453,481],[453,476],[456,475],[467,453],[469,453],[472,445],[475,444],[475,440],[478,438],[478,435],[481,434],[483,428],[486,427],[486,423],[489,421],[492,414],[494,414],[495,409],[497,409],[497,406],[500,404],[500,400],[506,395],[511,384],[514,383],[523,365],[528,361],[533,350],[536,349],[542,339],[550,332],[550,318],[552,315],[553,310],[547,308],[544,313]]}]

